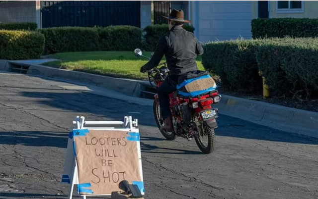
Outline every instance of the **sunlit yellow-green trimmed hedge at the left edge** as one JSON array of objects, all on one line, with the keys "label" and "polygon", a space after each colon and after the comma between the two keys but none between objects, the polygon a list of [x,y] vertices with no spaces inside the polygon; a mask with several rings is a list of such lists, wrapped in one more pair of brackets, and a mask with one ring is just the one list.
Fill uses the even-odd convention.
[{"label": "sunlit yellow-green trimmed hedge at the left edge", "polygon": [[0,59],[39,58],[44,36],[38,32],[0,30]]}]

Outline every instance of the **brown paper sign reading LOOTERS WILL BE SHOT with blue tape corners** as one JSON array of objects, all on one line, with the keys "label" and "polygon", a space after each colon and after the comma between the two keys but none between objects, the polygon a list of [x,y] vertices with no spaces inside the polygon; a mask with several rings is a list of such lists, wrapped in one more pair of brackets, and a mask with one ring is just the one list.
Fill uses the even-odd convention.
[{"label": "brown paper sign reading LOOTERS WILL BE SHOT with blue tape corners", "polygon": [[144,194],[139,132],[79,129],[73,135],[80,195],[110,195],[123,180]]}]

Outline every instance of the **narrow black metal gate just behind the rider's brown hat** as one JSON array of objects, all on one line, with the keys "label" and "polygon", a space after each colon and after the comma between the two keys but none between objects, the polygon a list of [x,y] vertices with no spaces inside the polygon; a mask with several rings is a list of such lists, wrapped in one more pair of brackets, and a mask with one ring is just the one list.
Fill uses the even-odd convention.
[{"label": "narrow black metal gate just behind the rider's brown hat", "polygon": [[169,0],[154,0],[154,23],[168,23],[168,20],[163,16],[168,16],[171,11],[171,1]]}]

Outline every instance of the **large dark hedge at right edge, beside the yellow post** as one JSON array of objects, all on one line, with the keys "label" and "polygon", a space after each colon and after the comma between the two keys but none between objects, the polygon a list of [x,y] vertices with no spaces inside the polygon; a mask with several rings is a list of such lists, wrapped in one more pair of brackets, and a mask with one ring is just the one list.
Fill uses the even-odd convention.
[{"label": "large dark hedge at right edge, beside the yellow post", "polygon": [[260,46],[256,59],[274,95],[318,95],[318,39],[276,39]]}]

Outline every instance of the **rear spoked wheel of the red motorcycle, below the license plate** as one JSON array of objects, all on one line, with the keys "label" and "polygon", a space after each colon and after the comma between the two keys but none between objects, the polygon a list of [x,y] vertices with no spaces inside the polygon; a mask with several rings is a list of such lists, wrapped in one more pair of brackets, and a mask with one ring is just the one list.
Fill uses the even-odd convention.
[{"label": "rear spoked wheel of the red motorcycle, below the license plate", "polygon": [[[195,118],[195,120],[198,121],[198,118]],[[212,153],[215,146],[214,129],[203,125],[201,122],[199,123],[200,125],[196,127],[196,130],[198,131],[198,137],[195,137],[195,142],[203,153]]]}]

